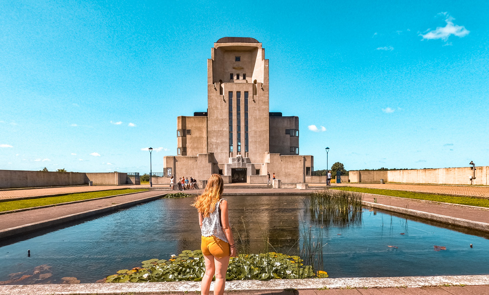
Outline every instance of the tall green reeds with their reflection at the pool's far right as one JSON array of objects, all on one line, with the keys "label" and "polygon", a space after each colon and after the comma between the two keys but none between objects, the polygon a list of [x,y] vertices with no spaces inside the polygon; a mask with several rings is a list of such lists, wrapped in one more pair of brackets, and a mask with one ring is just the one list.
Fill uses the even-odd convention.
[{"label": "tall green reeds with their reflection at the pool's far right", "polygon": [[312,222],[348,226],[361,223],[362,199],[360,193],[324,190],[311,193],[303,202]]}]

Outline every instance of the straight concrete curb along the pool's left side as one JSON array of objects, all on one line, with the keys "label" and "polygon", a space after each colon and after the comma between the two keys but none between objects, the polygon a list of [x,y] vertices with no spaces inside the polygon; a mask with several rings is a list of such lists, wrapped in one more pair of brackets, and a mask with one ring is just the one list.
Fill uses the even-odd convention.
[{"label": "straight concrete curb along the pool's left side", "polygon": [[27,233],[27,232],[33,231],[33,230],[42,229],[44,227],[56,226],[56,225],[59,225],[59,224],[63,224],[63,223],[67,223],[67,222],[70,222],[70,221],[75,221],[75,220],[87,218],[87,217],[90,217],[90,216],[94,216],[94,215],[98,215],[98,214],[102,214],[102,213],[106,213],[106,212],[116,211],[116,210],[119,210],[119,209],[122,209],[122,208],[131,207],[131,206],[137,205],[137,204],[142,204],[142,203],[150,202],[150,201],[159,199],[159,198],[161,198],[164,195],[166,195],[166,194],[160,194],[160,195],[157,195],[157,196],[143,198],[143,199],[139,199],[139,200],[127,202],[127,203],[116,204],[116,205],[112,205],[112,206],[109,206],[109,207],[97,208],[97,209],[93,209],[93,210],[89,210],[89,211],[85,211],[85,212],[79,212],[79,213],[75,213],[75,214],[70,214],[70,215],[66,215],[66,216],[62,216],[62,217],[57,217],[57,218],[53,218],[53,219],[44,220],[44,221],[41,221],[41,222],[36,222],[36,223],[27,224],[27,225],[22,225],[22,226],[19,226],[19,227],[11,227],[11,228],[7,228],[7,229],[2,229],[2,230],[0,230],[0,239],[4,239],[4,238],[7,238],[7,237],[11,237],[11,236],[15,236],[15,235]]}]

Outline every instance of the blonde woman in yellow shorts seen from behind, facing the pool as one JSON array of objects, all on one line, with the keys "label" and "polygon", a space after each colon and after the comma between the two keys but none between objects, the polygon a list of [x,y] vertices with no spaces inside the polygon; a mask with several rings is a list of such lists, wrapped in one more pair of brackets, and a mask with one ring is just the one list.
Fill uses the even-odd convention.
[{"label": "blonde woman in yellow shorts seen from behind, facing the pool", "polygon": [[221,199],[222,190],[221,176],[213,174],[203,194],[198,196],[195,203],[192,204],[199,211],[202,234],[200,249],[205,261],[205,274],[200,286],[202,295],[209,294],[214,274],[216,275],[214,294],[222,295],[224,293],[229,258],[237,256],[233,233],[229,227],[227,200]]}]

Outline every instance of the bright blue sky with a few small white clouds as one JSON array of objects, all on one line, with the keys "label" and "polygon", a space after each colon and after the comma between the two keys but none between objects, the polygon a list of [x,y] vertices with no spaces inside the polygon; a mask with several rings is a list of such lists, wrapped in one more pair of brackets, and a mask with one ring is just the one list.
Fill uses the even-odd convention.
[{"label": "bright blue sky with a few small white clouds", "polygon": [[[207,58],[253,37],[270,112],[347,170],[489,165],[488,1],[2,1],[0,169],[163,170]],[[324,128],[323,128],[324,127]],[[326,130],[326,131],[323,131]]]}]

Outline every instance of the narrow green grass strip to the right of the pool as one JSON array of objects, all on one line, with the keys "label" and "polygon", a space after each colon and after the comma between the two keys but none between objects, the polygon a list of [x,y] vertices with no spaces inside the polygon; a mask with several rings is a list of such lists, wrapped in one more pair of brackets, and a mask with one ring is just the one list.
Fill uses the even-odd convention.
[{"label": "narrow green grass strip to the right of the pool", "polygon": [[450,204],[461,204],[469,206],[478,206],[489,208],[488,199],[479,199],[473,197],[457,197],[457,196],[446,196],[446,195],[432,195],[432,194],[422,194],[415,192],[408,192],[404,190],[391,190],[391,189],[381,189],[381,188],[365,188],[365,187],[335,187],[331,189],[359,192],[366,194],[376,194],[383,196],[417,199],[417,200],[427,200],[434,202],[450,203]]}]

